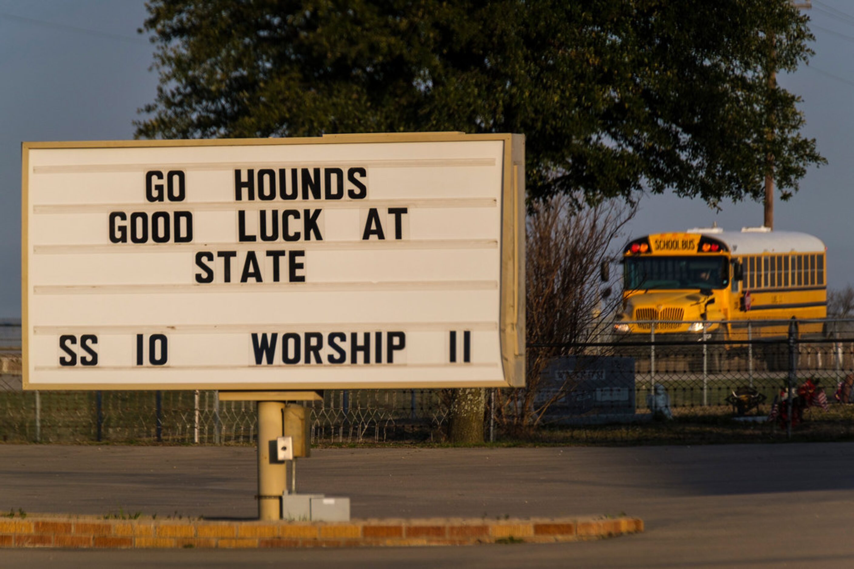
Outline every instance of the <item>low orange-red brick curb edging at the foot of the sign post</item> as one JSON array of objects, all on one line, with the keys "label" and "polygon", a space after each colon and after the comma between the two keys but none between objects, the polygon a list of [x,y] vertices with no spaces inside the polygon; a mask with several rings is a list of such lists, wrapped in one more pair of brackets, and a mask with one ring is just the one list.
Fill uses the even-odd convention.
[{"label": "low orange-red brick curb edging at the foot of the sign post", "polygon": [[0,518],[0,548],[299,548],[554,543],[643,531],[637,518],[351,520],[340,523]]}]

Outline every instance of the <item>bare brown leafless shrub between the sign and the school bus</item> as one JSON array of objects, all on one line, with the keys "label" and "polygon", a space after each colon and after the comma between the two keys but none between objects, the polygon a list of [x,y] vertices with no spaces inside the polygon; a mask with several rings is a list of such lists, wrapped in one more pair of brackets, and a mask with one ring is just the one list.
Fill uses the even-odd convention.
[{"label": "bare brown leafless shrub between the sign and the school bus", "polygon": [[[549,406],[574,387],[568,377],[543,400],[541,374],[556,356],[589,353],[580,344],[594,340],[605,318],[620,302],[619,276],[611,270],[603,283],[600,267],[611,263],[613,245],[623,237],[636,208],[622,200],[576,209],[574,196],[538,200],[526,219],[526,325],[529,347],[526,386],[496,394],[496,417],[513,434],[529,433],[540,424]],[[603,298],[606,297],[606,298]],[[602,354],[606,355],[606,354]]]}]

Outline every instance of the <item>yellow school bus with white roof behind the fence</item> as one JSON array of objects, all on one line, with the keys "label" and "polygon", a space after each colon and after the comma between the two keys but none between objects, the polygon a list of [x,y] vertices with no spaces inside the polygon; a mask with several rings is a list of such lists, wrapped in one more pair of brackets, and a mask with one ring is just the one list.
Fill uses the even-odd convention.
[{"label": "yellow school bus with white roof behind the fence", "polygon": [[[765,227],[634,239],[623,249],[623,308],[614,330],[649,335],[654,326],[656,334],[699,340],[705,329],[726,340],[745,338],[750,323],[762,335],[785,334],[782,320],[827,316],[825,253],[813,235]],[[820,322],[799,327],[800,334],[821,331]]]}]

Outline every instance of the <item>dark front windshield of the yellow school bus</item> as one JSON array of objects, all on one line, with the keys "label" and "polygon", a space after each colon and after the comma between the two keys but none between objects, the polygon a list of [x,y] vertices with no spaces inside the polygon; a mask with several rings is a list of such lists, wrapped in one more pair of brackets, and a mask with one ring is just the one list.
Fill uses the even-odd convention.
[{"label": "dark front windshield of the yellow school bus", "polygon": [[627,257],[623,262],[626,290],[650,288],[725,288],[729,271],[725,257]]}]

